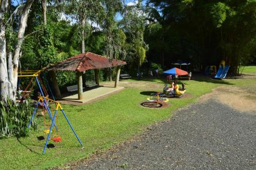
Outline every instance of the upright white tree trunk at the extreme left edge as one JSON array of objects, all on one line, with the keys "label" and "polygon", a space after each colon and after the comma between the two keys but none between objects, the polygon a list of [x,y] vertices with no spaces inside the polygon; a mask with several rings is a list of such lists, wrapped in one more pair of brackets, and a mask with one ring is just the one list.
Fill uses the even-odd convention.
[{"label": "upright white tree trunk at the extreme left edge", "polygon": [[8,73],[6,61],[6,38],[4,15],[7,12],[8,1],[0,1],[0,100],[6,101],[8,96]]}]

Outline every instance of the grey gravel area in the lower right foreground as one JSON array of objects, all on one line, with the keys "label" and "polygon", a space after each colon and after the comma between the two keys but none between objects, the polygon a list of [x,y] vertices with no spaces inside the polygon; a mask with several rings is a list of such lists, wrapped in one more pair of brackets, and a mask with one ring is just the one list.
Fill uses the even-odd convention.
[{"label": "grey gravel area in the lower right foreground", "polygon": [[256,113],[210,99],[72,169],[256,169]]}]

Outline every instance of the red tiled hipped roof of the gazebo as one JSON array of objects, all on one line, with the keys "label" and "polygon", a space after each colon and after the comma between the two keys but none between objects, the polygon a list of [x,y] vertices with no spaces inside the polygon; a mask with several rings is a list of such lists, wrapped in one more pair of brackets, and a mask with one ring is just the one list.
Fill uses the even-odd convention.
[{"label": "red tiled hipped roof of the gazebo", "polygon": [[126,62],[109,60],[108,57],[100,56],[94,53],[82,53],[77,56],[57,62],[56,64],[45,67],[44,70],[55,71],[85,71],[89,69],[109,68],[117,65],[125,65]]}]

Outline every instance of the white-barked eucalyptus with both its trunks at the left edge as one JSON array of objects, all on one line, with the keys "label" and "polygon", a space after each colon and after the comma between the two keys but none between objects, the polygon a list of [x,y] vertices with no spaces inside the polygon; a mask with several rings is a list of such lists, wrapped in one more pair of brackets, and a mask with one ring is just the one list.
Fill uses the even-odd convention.
[{"label": "white-barked eucalyptus with both its trunks at the left edge", "polygon": [[[20,5],[17,8],[9,12],[10,1],[0,1],[0,100],[6,101],[7,98],[15,101],[16,89],[17,89],[17,76],[18,76],[18,62],[20,58],[20,48],[24,40],[24,34],[27,26],[27,19],[30,12],[33,0],[28,0],[25,3],[20,1]],[[18,15],[20,13],[20,15]],[[13,28],[10,25],[10,21],[14,15],[18,19],[18,29]],[[17,16],[18,15],[18,16]],[[11,24],[14,22],[11,22]],[[9,32],[7,31],[7,28]],[[17,30],[17,32],[16,32]],[[7,37],[15,39],[13,46],[11,42],[6,41]],[[14,37],[15,36],[15,37]],[[17,37],[16,37],[17,36]]]}]

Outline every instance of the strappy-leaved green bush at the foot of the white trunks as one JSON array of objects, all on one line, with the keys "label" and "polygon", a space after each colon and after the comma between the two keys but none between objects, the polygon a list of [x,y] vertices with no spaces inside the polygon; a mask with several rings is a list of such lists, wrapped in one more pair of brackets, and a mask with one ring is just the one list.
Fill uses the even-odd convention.
[{"label": "strappy-leaved green bush at the foot of the white trunks", "polygon": [[[0,102],[0,138],[27,136],[28,124],[33,113],[30,103],[13,104],[11,100]],[[35,118],[31,124],[36,128]]]}]

